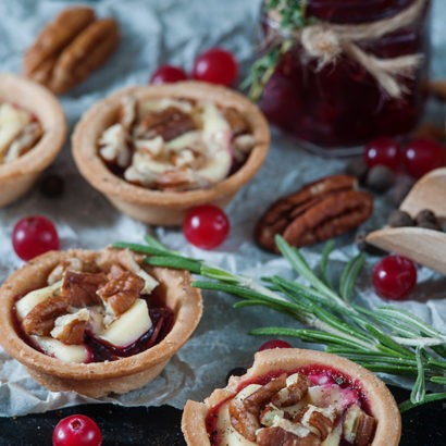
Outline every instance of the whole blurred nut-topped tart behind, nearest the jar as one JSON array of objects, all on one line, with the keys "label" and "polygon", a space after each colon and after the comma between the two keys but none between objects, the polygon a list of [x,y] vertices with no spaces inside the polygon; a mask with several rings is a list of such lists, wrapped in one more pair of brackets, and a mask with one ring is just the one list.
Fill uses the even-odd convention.
[{"label": "whole blurred nut-topped tart behind, nearest the jar", "polygon": [[121,211],[177,225],[190,207],[224,207],[260,169],[267,121],[236,91],[199,82],[125,88],[73,135],[80,173]]}]

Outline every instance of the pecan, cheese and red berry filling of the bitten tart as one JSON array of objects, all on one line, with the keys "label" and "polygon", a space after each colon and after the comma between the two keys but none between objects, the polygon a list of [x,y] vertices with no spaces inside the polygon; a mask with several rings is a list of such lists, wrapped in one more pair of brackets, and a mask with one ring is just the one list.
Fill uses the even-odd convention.
[{"label": "pecan, cheese and red berry filling of the bitten tart", "polygon": [[376,420],[359,383],[323,366],[241,382],[206,418],[210,444],[372,444]]}]

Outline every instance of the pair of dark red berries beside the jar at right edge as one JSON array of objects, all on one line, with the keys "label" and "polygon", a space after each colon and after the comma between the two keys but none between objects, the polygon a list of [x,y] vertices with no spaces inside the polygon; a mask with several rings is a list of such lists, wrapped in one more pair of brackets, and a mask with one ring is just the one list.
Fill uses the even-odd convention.
[{"label": "pair of dark red berries beside the jar at right edge", "polygon": [[366,146],[364,159],[369,168],[385,165],[394,172],[404,169],[419,178],[446,165],[446,149],[430,138],[411,139],[405,147],[393,138],[379,138]]}]

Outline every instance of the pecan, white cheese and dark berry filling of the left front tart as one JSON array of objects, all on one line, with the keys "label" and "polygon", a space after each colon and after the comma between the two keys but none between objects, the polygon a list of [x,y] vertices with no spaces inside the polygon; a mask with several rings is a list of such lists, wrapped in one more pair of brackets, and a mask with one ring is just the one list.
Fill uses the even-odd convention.
[{"label": "pecan, white cheese and dark berry filling of the left front tart", "polygon": [[153,293],[158,282],[131,251],[110,263],[65,259],[15,302],[24,339],[65,362],[113,361],[147,350],[173,324]]}]

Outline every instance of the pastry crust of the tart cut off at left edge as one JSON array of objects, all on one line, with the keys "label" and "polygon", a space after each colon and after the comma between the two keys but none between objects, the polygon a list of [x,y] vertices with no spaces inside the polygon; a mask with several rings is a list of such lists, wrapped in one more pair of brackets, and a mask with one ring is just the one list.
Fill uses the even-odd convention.
[{"label": "pastry crust of the tart cut off at left edge", "polygon": [[42,137],[27,153],[0,164],[0,207],[3,207],[26,194],[58,156],[66,138],[66,121],[52,92],[14,74],[0,74],[0,102],[34,113],[44,128]]}]

